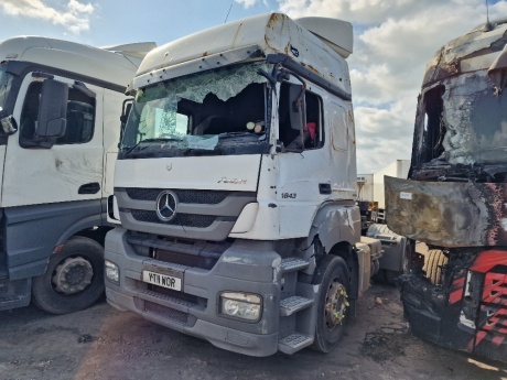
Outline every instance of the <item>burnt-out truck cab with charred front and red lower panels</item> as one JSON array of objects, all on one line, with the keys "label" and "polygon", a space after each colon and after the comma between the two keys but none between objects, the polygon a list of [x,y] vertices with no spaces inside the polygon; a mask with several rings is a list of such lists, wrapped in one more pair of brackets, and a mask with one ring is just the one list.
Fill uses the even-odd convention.
[{"label": "burnt-out truck cab with charred front and red lower panels", "polygon": [[507,358],[507,20],[436,52],[418,99],[409,180],[386,177],[387,224],[425,243],[401,300],[412,332]]}]

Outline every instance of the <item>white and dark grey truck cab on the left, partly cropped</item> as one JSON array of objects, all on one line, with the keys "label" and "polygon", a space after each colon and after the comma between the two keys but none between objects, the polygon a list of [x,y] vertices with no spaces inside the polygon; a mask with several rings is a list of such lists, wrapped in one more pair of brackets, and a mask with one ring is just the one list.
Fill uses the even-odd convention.
[{"label": "white and dark grey truck cab on the left, partly cropped", "polygon": [[0,43],[0,310],[67,313],[103,293],[123,93],[153,47]]}]

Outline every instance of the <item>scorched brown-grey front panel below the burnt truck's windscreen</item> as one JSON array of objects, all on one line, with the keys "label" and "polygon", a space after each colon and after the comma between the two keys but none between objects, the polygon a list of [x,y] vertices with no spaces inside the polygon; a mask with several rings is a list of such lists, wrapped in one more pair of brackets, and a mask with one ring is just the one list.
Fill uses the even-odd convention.
[{"label": "scorched brown-grey front panel below the burnt truck's windscreen", "polygon": [[507,184],[385,177],[386,219],[396,234],[440,247],[507,243]]}]

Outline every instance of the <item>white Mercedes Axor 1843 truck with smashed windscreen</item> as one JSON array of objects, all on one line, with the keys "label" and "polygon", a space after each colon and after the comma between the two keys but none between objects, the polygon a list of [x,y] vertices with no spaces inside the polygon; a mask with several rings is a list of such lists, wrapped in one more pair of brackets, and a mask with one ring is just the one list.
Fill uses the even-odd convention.
[{"label": "white Mercedes Axor 1843 truck with smashed windscreen", "polygon": [[355,205],[352,45],[348,22],[272,13],[147,55],[116,164],[111,305],[251,356],[337,344],[381,254]]}]

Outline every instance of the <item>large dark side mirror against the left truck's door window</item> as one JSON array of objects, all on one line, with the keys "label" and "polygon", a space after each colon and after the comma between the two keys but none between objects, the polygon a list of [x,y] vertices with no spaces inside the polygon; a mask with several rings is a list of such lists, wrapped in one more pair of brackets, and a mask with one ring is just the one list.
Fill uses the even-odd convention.
[{"label": "large dark side mirror against the left truck's door window", "polygon": [[53,79],[42,84],[39,117],[35,129],[37,138],[61,138],[67,127],[68,86]]}]

